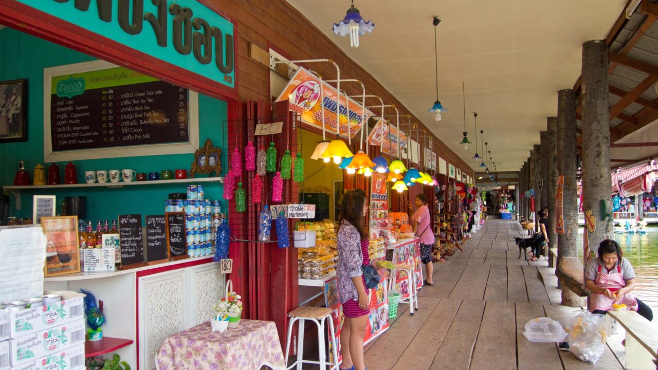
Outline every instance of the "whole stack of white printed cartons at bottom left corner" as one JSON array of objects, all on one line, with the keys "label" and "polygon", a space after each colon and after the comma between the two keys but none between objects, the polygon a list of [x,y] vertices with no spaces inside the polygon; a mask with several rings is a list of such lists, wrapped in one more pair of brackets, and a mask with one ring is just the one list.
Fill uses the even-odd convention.
[{"label": "whole stack of white printed cartons at bottom left corner", "polygon": [[47,293],[62,300],[20,311],[0,309],[0,370],[85,369],[84,295]]}]

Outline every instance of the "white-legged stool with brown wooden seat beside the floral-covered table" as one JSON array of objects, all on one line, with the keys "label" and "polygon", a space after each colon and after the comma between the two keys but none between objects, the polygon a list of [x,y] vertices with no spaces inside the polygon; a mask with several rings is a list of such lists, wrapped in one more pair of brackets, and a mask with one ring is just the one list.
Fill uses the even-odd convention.
[{"label": "white-legged stool with brown wooden seat beside the floral-covered table", "polygon": [[[290,365],[287,369],[290,370],[295,365],[297,370],[301,370],[304,363],[313,363],[320,365],[321,370],[326,370],[326,365],[330,365],[331,370],[338,370],[338,345],[336,343],[336,331],[334,330],[334,320],[331,317],[332,309],[324,307],[297,307],[288,313],[290,323],[288,323],[288,340],[286,341],[286,366],[288,366],[288,354],[290,353],[290,338],[292,334],[292,327],[296,321],[299,321],[299,330],[297,332],[297,361]],[[324,321],[329,320],[329,338],[331,340],[331,351],[334,355],[334,361],[326,361],[326,353],[324,352]],[[304,326],[306,321],[313,321],[318,327],[318,352],[320,352],[319,361],[304,360]]]}]

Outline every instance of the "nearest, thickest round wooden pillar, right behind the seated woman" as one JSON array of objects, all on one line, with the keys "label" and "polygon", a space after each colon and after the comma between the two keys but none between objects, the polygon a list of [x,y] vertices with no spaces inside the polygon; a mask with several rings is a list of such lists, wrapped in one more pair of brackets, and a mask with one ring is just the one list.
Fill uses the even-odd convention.
[{"label": "nearest, thickest round wooden pillar, right behind the seated woman", "polygon": [[582,45],[582,191],[583,210],[592,210],[596,228],[590,250],[612,237],[613,221],[601,220],[601,201],[611,212],[608,50],[603,40]]}]

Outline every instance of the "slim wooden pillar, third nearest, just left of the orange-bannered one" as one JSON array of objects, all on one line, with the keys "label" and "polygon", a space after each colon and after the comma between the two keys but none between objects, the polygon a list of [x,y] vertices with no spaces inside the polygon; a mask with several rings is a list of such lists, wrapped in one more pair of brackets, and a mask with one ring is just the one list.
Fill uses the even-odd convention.
[{"label": "slim wooden pillar, third nearest, just left of the orange-bannered one", "polygon": [[[557,117],[548,117],[546,122],[546,155],[547,170],[545,188],[548,205],[548,247],[557,247],[557,234],[555,233],[555,193],[557,192]],[[548,260],[549,267],[553,266],[553,258]]]}]

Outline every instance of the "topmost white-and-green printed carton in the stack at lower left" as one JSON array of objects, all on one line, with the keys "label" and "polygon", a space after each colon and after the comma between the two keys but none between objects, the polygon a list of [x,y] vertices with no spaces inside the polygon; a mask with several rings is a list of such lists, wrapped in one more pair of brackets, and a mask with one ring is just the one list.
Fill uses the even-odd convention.
[{"label": "topmost white-and-green printed carton in the stack at lower left", "polygon": [[45,294],[59,294],[62,296],[62,301],[21,311],[9,311],[10,338],[20,338],[39,330],[84,319],[82,308],[84,294],[65,290],[45,292]]}]

